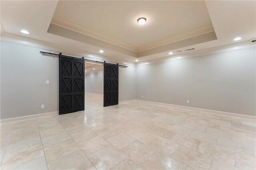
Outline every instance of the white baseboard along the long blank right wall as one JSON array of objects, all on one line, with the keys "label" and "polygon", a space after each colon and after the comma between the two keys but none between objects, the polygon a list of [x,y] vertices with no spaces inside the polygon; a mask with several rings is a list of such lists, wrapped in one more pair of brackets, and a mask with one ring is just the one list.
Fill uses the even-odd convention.
[{"label": "white baseboard along the long blank right wall", "polygon": [[145,100],[138,100],[138,99],[136,99],[136,101],[140,101],[140,102],[144,102],[144,103],[150,103],[150,104],[154,104],[154,105],[162,105],[162,106],[168,106],[168,107],[176,107],[176,108],[180,108],[180,109],[188,109],[188,110],[192,110],[192,111],[200,111],[200,112],[212,113],[212,114],[216,114],[216,115],[224,115],[224,116],[230,116],[230,117],[238,117],[238,118],[242,118],[242,119],[250,119],[250,120],[256,121],[256,117],[255,117],[255,116],[250,116],[250,115],[241,115],[241,114],[237,114],[237,113],[229,113],[229,112],[222,112],[222,111],[213,111],[213,110],[208,110],[208,109],[200,109],[200,108],[195,108],[195,107],[187,107],[187,106],[180,106],[180,105],[172,105],[172,104],[158,103],[158,102],[154,102],[154,101],[145,101]]}]

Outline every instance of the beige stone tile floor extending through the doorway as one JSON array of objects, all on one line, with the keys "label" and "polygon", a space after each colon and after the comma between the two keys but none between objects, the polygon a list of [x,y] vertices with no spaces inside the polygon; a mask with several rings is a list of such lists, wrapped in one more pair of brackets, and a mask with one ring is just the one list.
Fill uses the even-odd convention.
[{"label": "beige stone tile floor extending through the doorway", "polygon": [[142,102],[6,123],[1,169],[256,169],[256,123]]}]

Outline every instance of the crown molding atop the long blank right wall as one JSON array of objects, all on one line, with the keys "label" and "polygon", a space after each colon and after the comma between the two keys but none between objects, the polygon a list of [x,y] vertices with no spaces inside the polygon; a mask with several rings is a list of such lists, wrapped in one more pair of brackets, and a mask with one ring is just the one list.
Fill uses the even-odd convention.
[{"label": "crown molding atop the long blank right wall", "polygon": [[222,53],[222,52],[234,51],[234,50],[238,50],[238,49],[246,49],[246,48],[251,48],[251,47],[256,47],[256,43],[252,43],[250,41],[245,41],[245,42],[240,42],[240,43],[233,43],[233,44],[222,45],[222,46],[218,46],[218,47],[212,47],[212,48],[208,48],[208,49],[202,49],[202,50],[198,50],[198,51],[191,51],[191,52],[183,53],[183,54],[166,56],[166,57],[162,57],[162,58],[158,58],[158,59],[150,59],[150,60],[146,60],[146,61],[141,61],[141,62],[136,63],[136,66],[153,64],[153,63],[161,63],[161,62],[172,61],[172,60],[176,60],[176,59],[200,57],[200,56],[210,55],[210,54],[214,54],[214,53]]}]

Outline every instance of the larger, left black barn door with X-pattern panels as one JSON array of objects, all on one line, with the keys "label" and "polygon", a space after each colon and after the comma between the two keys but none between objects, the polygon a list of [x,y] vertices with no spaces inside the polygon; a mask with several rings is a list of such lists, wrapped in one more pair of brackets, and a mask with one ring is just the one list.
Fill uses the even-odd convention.
[{"label": "larger, left black barn door with X-pattern panels", "polygon": [[59,56],[59,114],[84,111],[84,59]]}]

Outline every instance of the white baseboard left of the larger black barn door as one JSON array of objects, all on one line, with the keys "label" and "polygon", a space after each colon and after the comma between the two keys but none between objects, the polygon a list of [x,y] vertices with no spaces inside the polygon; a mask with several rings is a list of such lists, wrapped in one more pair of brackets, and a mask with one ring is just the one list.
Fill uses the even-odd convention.
[{"label": "white baseboard left of the larger black barn door", "polygon": [[58,115],[58,114],[59,114],[59,111],[55,111],[55,112],[48,112],[48,113],[40,113],[40,114],[36,114],[36,115],[13,117],[13,118],[9,118],[9,119],[0,120],[0,124],[24,121],[24,120],[29,120],[29,119],[37,119],[40,117],[48,117],[48,116],[54,116],[54,115]]}]

